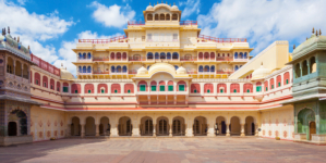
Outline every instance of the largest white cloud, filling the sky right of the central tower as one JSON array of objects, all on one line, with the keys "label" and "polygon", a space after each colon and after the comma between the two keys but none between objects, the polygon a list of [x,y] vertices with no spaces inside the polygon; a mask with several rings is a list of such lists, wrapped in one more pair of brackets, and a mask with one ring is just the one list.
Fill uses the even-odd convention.
[{"label": "largest white cloud, filling the sky right of the central tower", "polygon": [[222,0],[198,15],[202,34],[249,38],[254,54],[275,40],[302,42],[312,27],[325,28],[325,0]]}]

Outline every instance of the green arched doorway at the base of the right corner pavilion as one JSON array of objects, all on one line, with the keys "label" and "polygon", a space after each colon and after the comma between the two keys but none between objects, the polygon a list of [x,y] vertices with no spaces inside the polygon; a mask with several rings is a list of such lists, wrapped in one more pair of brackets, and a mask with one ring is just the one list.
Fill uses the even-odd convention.
[{"label": "green arched doorway at the base of the right corner pavilion", "polygon": [[311,134],[316,133],[315,112],[312,109],[303,109],[298,113],[297,130],[306,134],[306,140],[311,140]]}]

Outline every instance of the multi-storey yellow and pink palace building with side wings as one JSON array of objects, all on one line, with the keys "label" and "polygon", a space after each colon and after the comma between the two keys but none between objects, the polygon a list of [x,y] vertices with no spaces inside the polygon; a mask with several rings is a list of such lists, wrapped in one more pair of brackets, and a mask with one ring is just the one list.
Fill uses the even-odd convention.
[{"label": "multi-storey yellow and pink palace building with side wings", "polygon": [[[2,29],[0,145],[65,137],[259,136],[326,143],[326,37],[254,58],[159,3],[125,35],[80,39],[76,77]],[[39,54],[41,55],[41,54]]]}]

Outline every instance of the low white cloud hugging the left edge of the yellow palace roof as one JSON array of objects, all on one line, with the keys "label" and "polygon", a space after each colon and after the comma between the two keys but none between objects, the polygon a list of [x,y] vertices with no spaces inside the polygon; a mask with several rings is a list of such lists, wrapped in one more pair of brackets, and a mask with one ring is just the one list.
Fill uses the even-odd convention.
[{"label": "low white cloud hugging the left edge of the yellow palace roof", "polygon": [[82,32],[77,35],[77,38],[72,41],[62,41],[61,48],[59,49],[60,60],[56,60],[55,66],[60,67],[61,63],[69,72],[76,75],[76,66],[72,62],[76,62],[76,53],[72,49],[76,48],[79,39],[107,39],[116,36],[121,36],[122,34],[117,33],[111,36],[98,35],[97,33],[92,33],[90,30]]}]

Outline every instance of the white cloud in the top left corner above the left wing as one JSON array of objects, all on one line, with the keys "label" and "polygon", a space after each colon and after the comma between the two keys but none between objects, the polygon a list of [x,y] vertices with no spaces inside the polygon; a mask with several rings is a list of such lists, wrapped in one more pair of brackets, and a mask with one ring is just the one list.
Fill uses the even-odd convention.
[{"label": "white cloud in the top left corner above the left wing", "polygon": [[21,37],[22,43],[31,46],[32,52],[41,59],[53,62],[58,59],[53,46],[43,46],[40,42],[64,34],[72,21],[58,17],[58,11],[49,15],[28,13],[25,8],[5,0],[0,0],[0,24],[10,26],[13,37]]}]

